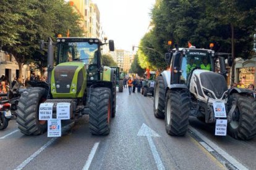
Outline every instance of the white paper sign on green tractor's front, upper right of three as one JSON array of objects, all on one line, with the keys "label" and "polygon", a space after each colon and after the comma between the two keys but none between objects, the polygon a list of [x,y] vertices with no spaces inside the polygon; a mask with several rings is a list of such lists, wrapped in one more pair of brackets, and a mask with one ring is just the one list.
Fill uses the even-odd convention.
[{"label": "white paper sign on green tractor's front, upper right of three", "polygon": [[57,119],[70,119],[70,103],[57,103]]}]

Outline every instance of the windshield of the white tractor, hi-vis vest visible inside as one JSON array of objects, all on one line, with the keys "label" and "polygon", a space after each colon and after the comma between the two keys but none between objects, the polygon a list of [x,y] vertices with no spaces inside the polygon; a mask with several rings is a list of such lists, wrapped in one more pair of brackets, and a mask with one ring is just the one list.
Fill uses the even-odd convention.
[{"label": "windshield of the white tractor, hi-vis vest visible inside", "polygon": [[187,84],[187,79],[194,69],[212,71],[211,54],[208,51],[187,51],[182,57],[181,81]]}]

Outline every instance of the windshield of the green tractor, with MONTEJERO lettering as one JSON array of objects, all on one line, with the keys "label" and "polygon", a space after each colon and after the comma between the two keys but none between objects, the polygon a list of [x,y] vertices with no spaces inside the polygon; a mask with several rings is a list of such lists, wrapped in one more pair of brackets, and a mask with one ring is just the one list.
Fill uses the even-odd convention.
[{"label": "windshield of the green tractor, with MONTEJERO lettering", "polygon": [[89,42],[60,42],[58,62],[81,61],[87,65],[96,64],[98,59],[98,45]]}]

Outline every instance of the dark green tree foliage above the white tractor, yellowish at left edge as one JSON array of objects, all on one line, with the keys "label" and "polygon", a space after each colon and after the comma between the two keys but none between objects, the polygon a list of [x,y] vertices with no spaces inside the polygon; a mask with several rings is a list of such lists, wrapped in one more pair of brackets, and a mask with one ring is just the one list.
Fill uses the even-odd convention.
[{"label": "dark green tree foliage above the white tractor, yellowish at left edge", "polygon": [[199,48],[215,44],[216,52],[231,52],[231,24],[234,26],[235,54],[247,58],[252,52],[255,33],[255,0],[157,0],[151,10],[153,29],[145,34],[139,49],[143,68],[164,67],[164,58],[147,47],[164,54],[168,40],[179,47],[190,41]]}]

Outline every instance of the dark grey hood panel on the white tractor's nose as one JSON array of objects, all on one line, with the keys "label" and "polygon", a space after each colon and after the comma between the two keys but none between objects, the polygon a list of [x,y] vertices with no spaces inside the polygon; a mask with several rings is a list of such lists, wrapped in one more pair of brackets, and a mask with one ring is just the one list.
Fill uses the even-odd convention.
[{"label": "dark grey hood panel on the white tractor's nose", "polygon": [[218,99],[221,99],[224,92],[228,91],[228,86],[224,76],[211,71],[200,74],[202,86],[205,89],[213,91]]}]

